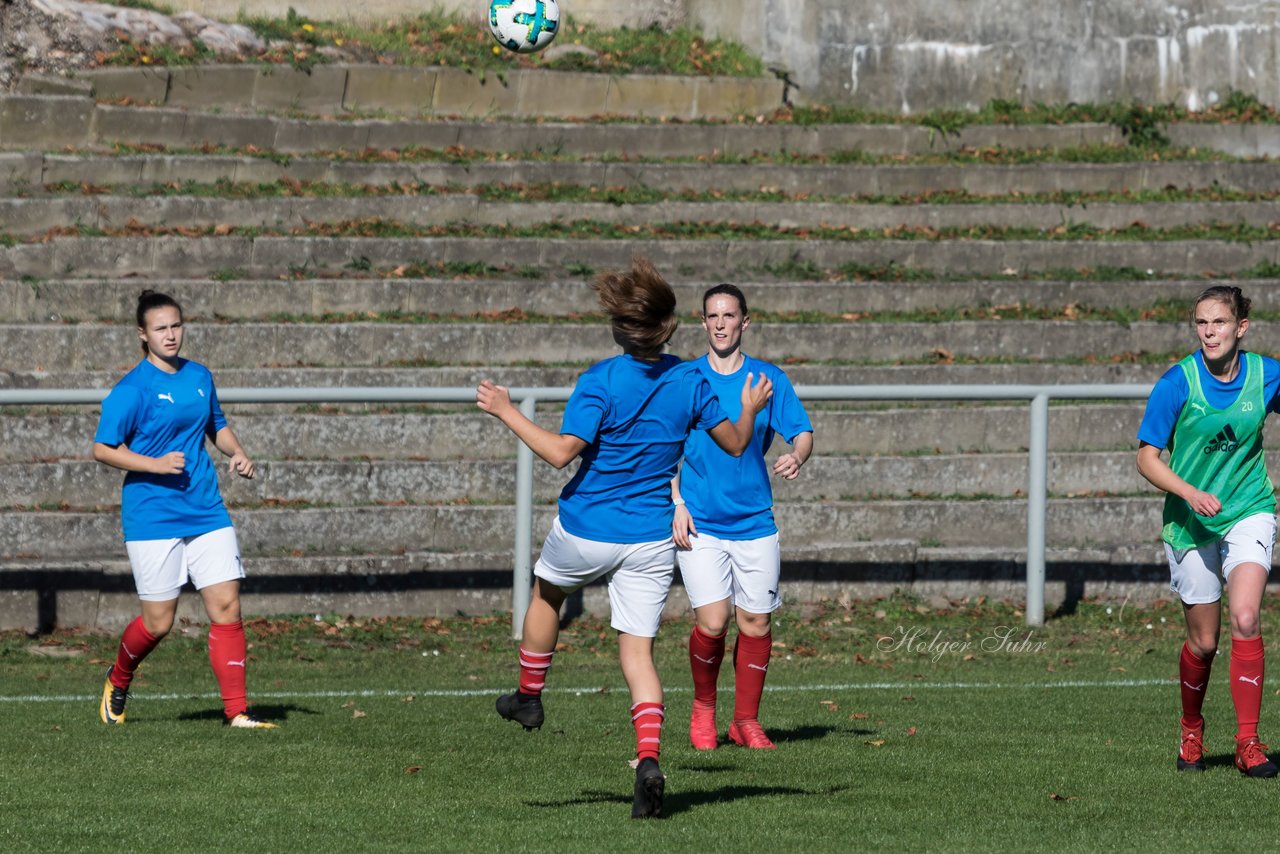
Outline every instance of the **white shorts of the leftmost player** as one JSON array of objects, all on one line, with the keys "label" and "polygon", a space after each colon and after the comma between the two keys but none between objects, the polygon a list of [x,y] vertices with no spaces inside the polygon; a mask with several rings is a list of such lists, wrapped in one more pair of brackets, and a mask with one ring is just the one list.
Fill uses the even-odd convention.
[{"label": "white shorts of the leftmost player", "polygon": [[197,590],[244,577],[236,529],[227,526],[197,536],[125,540],[138,598],[169,602],[189,579]]}]

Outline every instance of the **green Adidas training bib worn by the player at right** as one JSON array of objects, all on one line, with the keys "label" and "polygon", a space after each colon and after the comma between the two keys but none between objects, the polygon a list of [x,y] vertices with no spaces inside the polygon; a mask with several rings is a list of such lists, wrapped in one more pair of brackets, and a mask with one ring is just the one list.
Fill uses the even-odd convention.
[{"label": "green Adidas training bib worn by the player at right", "polygon": [[1204,397],[1196,355],[1178,362],[1190,393],[1169,442],[1169,467],[1216,495],[1222,510],[1199,516],[1178,495],[1166,494],[1162,538],[1175,549],[1207,545],[1245,516],[1276,510],[1275,488],[1262,457],[1262,421],[1267,416],[1262,357],[1251,352],[1243,357],[1244,387],[1222,410],[1215,410]]}]

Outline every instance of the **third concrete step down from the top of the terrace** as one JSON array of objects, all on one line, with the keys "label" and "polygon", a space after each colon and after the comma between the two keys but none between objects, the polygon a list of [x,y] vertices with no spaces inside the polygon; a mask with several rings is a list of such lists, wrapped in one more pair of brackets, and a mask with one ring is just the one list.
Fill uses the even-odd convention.
[{"label": "third concrete step down from the top of the terrace", "polygon": [[[639,137],[645,137],[648,129]],[[358,151],[358,149],[348,149]],[[600,149],[599,151],[617,151]],[[1151,160],[1032,164],[671,163],[500,159],[357,160],[196,154],[0,152],[0,192],[32,193],[54,184],[151,187],[186,183],[270,184],[279,181],[347,186],[489,187],[570,184],[644,187],[664,192],[777,192],[813,196],[914,197],[938,191],[984,196],[1055,192],[1116,193],[1220,188],[1266,193],[1280,188],[1280,163]]]}]

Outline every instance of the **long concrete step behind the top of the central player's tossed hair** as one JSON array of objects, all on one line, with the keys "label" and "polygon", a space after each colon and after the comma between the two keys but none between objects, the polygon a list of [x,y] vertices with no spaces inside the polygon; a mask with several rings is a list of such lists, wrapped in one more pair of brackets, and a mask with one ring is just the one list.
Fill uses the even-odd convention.
[{"label": "long concrete step behind the top of the central player's tossed hair", "polygon": [[982,278],[1128,268],[1161,278],[1230,277],[1280,264],[1280,241],[1073,239],[581,239],[520,237],[65,237],[0,246],[0,278],[314,278],[448,262],[536,270],[625,269],[643,252],[691,279],[758,278],[773,268],[909,268]]}]

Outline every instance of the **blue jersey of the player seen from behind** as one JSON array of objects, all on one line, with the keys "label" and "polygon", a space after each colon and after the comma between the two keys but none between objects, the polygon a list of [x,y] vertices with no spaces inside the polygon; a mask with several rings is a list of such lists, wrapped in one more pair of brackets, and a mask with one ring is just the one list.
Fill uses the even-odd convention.
[{"label": "blue jersey of the player seen from behind", "polygon": [[691,430],[726,419],[691,362],[622,355],[579,378],[561,433],[586,442],[577,474],[561,492],[566,531],[600,543],[652,543],[671,536],[671,479]]}]

